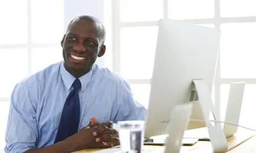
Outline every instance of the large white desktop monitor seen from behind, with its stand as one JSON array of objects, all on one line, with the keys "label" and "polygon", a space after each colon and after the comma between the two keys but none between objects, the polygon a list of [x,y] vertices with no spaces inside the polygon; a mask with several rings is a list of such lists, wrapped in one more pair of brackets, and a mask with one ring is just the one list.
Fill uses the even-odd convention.
[{"label": "large white desktop monitor seen from behind, with its stand", "polygon": [[204,119],[205,123],[190,122],[188,129],[207,126],[211,143],[217,150],[225,150],[227,141],[221,124],[212,126],[209,121],[209,113],[216,113],[211,90],[220,30],[169,19],[161,19],[158,25],[145,138],[168,134],[166,127],[172,123],[169,118],[173,108],[194,103],[191,118]]}]

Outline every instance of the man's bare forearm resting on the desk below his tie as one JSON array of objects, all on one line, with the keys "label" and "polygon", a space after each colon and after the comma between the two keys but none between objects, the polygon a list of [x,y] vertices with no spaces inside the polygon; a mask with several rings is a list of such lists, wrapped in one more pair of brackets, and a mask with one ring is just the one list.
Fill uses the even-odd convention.
[{"label": "man's bare forearm resting on the desk below his tie", "polygon": [[70,153],[73,151],[77,151],[77,147],[74,145],[74,143],[72,141],[70,141],[69,139],[60,141],[58,143],[55,143],[51,146],[47,146],[44,148],[39,148],[39,149],[31,149],[26,151],[26,153],[44,153],[44,152],[48,152],[48,153]]}]

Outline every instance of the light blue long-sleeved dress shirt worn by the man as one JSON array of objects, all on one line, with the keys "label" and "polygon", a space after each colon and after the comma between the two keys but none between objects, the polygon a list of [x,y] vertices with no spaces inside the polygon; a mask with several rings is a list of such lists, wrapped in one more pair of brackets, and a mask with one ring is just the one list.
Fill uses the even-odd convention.
[{"label": "light blue long-sleeved dress shirt worn by the man", "polygon": [[[95,117],[98,122],[145,120],[146,110],[118,74],[94,65],[81,81],[79,129]],[[63,62],[18,83],[11,96],[6,152],[25,152],[52,145],[65,100],[75,81]]]}]

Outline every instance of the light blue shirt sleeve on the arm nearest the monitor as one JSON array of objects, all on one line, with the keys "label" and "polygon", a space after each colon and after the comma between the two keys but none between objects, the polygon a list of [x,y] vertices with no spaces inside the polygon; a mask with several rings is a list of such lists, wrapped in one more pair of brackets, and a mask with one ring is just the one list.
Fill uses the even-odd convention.
[{"label": "light blue shirt sleeve on the arm nearest the monitor", "polygon": [[116,104],[119,105],[114,122],[123,120],[144,120],[146,119],[146,109],[136,101],[131,87],[123,82],[117,89]]}]

